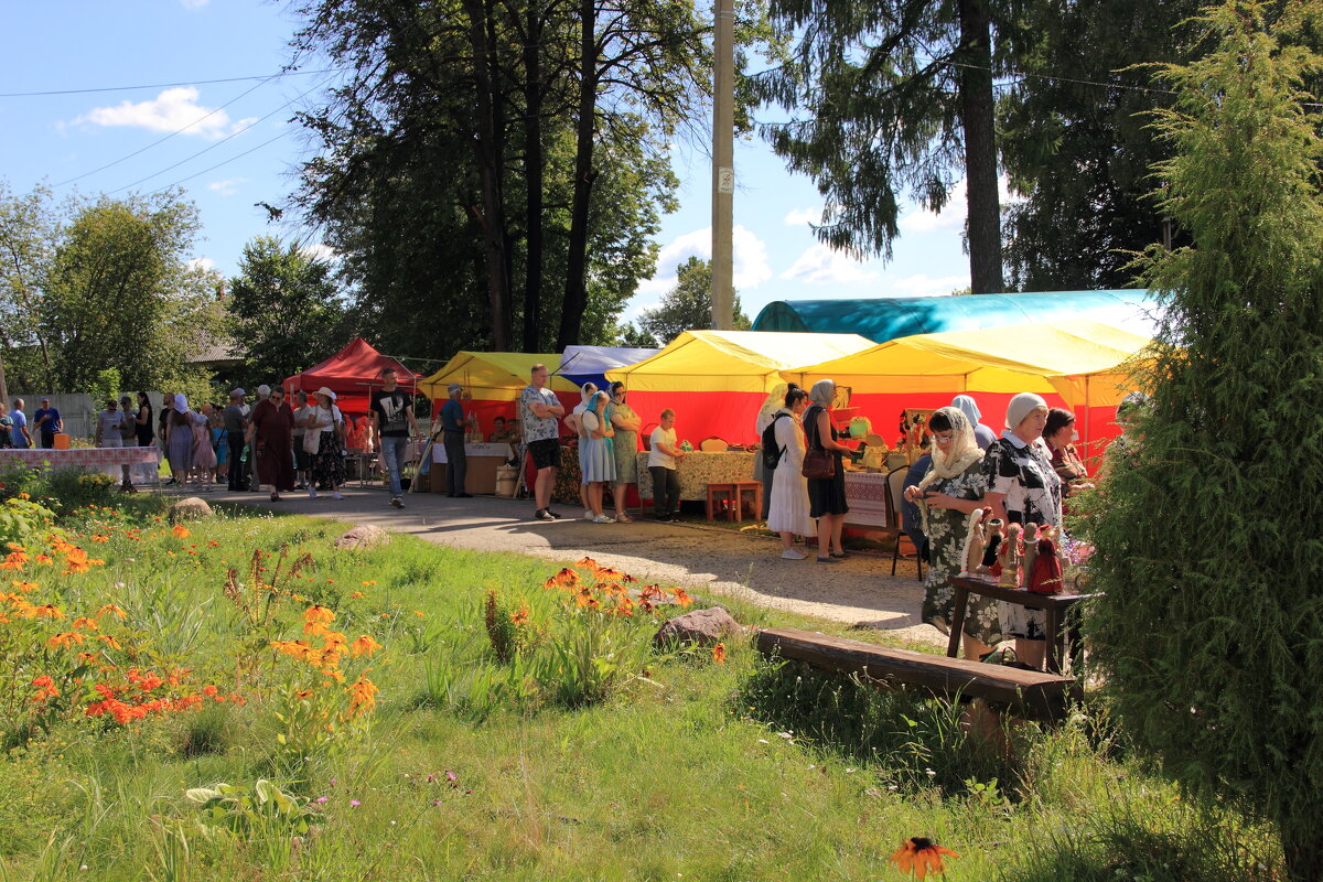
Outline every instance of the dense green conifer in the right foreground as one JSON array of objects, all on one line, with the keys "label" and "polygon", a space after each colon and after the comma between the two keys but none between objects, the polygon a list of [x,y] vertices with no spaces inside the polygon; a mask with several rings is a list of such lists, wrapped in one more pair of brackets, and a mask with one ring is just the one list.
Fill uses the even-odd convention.
[{"label": "dense green conifer in the right foreground", "polygon": [[1088,520],[1103,596],[1085,623],[1127,730],[1188,787],[1278,829],[1291,879],[1323,879],[1323,190],[1301,48],[1323,8],[1257,0],[1199,19],[1168,65],[1152,247],[1164,305],[1135,444]]}]

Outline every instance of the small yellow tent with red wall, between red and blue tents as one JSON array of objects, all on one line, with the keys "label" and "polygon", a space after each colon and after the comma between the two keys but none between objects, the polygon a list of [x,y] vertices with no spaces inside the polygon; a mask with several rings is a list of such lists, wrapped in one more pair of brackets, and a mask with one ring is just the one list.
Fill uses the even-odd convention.
[{"label": "small yellow tent with red wall, between red and blue tents", "polygon": [[422,380],[418,389],[433,401],[433,413],[437,413],[450,397],[450,383],[462,385],[472,395],[471,402],[464,402],[464,413],[478,417],[478,426],[483,436],[487,436],[496,417],[507,421],[515,418],[515,402],[520,390],[528,385],[529,372],[536,364],[546,365],[552,372],[548,386],[561,403],[578,403],[578,386],[554,376],[561,366],[561,357],[554,353],[458,352],[441,370]]}]

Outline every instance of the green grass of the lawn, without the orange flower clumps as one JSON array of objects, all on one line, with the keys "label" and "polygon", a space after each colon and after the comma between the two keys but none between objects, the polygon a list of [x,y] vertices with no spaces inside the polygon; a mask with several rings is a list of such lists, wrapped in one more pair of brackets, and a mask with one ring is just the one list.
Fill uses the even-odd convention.
[{"label": "green grass of the lawn, without the orange flower clumps", "polygon": [[[909,836],[960,854],[950,879],[1277,874],[1269,833],[1225,807],[1188,805],[1130,756],[1103,709],[1057,730],[1019,727],[1013,756],[990,755],[949,706],[766,662],[738,640],[725,664],[705,651],[658,656],[648,677],[568,707],[495,661],[482,612],[495,588],[550,615],[564,595],[540,586],[554,565],[410,537],[335,553],[344,525],[224,506],[180,540],[152,534],[163,528],[151,500],[124,504],[144,538],[110,530],[86,545],[105,567],[44,591],[69,608],[122,606],[151,659],[229,688],[247,632],[226,570],[288,543],[315,561],[298,591],[335,608],[349,639],[385,647],[369,674],[377,710],[365,737],[292,764],[274,741],[277,703],[247,684],[242,706],[128,727],[57,721],[0,762],[0,878],[888,879]],[[86,512],[71,524],[105,529]],[[298,636],[303,606],[282,614],[282,637]],[[885,641],[725,606],[744,623]],[[232,838],[184,797],[263,778],[321,822],[298,834],[263,821]]]}]

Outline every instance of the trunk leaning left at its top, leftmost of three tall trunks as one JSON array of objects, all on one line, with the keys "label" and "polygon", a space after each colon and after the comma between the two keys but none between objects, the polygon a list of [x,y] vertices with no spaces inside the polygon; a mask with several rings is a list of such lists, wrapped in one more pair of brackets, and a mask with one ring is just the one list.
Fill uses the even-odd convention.
[{"label": "trunk leaning left at its top, leftmost of three tall trunks", "polygon": [[505,263],[505,210],[503,197],[503,141],[497,107],[499,95],[493,81],[491,41],[487,34],[488,11],[483,0],[463,0],[468,16],[468,37],[474,49],[474,79],[476,83],[478,134],[474,153],[482,186],[483,245],[487,254],[487,299],[491,307],[492,348],[508,352],[513,337],[511,320],[511,286]]}]

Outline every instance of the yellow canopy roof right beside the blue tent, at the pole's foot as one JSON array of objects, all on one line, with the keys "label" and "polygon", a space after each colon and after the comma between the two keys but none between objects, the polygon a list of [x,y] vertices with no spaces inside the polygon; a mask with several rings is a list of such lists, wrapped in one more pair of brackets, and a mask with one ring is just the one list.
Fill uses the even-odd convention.
[{"label": "yellow canopy roof right beside the blue tent, at the pole's foot", "polygon": [[606,372],[632,391],[742,391],[767,394],[781,372],[849,356],[872,346],[856,333],[685,331],[662,352]]}]

